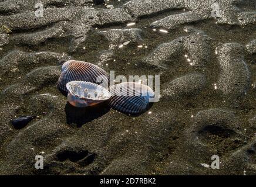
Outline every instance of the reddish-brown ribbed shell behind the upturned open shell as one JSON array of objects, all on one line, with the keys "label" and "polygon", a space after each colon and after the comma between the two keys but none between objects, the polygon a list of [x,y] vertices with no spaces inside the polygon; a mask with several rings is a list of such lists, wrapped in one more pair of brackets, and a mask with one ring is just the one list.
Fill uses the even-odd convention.
[{"label": "reddish-brown ribbed shell behind the upturned open shell", "polygon": [[86,81],[95,84],[107,86],[109,75],[105,70],[97,65],[83,61],[69,60],[62,65],[62,73],[58,80],[58,88],[61,91],[68,92],[66,84],[70,81]]}]

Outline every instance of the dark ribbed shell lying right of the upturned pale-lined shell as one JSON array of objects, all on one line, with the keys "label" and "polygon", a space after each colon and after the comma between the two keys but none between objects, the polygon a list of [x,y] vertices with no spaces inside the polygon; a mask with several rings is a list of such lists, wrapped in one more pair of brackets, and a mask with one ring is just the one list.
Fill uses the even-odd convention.
[{"label": "dark ribbed shell lying right of the upturned pale-lined shell", "polygon": [[153,90],[137,82],[122,82],[110,86],[109,106],[129,115],[143,113],[149,107],[149,99],[154,98]]}]

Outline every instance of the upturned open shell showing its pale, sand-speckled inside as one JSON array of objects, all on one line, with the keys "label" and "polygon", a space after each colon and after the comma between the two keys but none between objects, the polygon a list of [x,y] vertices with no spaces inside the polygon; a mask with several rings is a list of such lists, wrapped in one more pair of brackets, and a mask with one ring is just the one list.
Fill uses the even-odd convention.
[{"label": "upturned open shell showing its pale, sand-speckled inside", "polygon": [[85,81],[71,81],[66,84],[68,102],[75,107],[96,105],[110,98],[110,93],[103,86]]}]

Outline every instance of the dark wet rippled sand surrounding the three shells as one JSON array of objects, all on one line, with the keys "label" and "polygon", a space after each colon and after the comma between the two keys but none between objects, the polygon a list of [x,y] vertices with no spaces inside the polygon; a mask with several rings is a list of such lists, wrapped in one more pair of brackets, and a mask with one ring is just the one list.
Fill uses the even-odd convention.
[{"label": "dark wet rippled sand surrounding the three shells", "polygon": [[[213,0],[41,0],[42,18],[36,2],[0,0],[0,174],[256,174],[255,1],[219,0],[218,18]],[[70,59],[160,75],[160,101],[73,108],[56,88]]]}]

